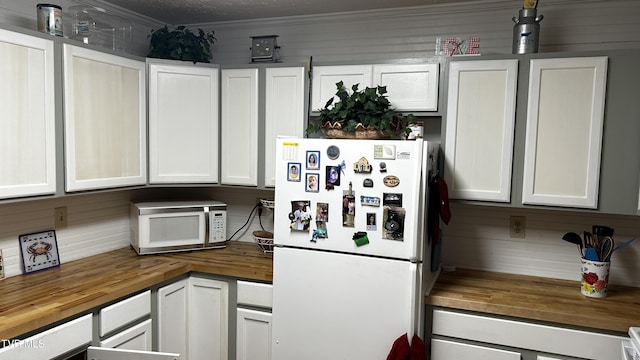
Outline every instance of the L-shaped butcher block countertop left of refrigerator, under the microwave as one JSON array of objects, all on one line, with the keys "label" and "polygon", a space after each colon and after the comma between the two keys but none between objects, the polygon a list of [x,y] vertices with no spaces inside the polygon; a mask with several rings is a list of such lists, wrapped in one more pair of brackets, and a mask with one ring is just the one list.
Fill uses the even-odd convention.
[{"label": "L-shaped butcher block countertop left of refrigerator, under the microwave", "polygon": [[0,339],[13,339],[189,272],[272,281],[272,255],[254,243],[138,256],[130,247],[0,281]]}]

